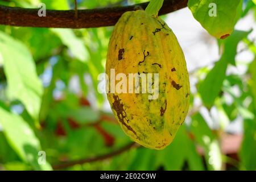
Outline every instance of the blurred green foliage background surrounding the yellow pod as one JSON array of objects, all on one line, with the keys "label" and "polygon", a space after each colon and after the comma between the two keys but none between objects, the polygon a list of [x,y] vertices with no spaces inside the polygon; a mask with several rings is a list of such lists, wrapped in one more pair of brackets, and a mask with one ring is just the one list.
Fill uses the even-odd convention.
[{"label": "blurred green foliage background surrounding the yellow pod", "polygon": [[[67,0],[0,5],[35,8],[40,2],[47,9],[74,8]],[[80,9],[94,9],[145,1],[77,2]],[[244,1],[241,18],[255,10],[254,1]],[[222,56],[214,67],[189,70],[195,89],[185,125],[170,146],[155,151],[132,143],[97,92],[112,30],[0,26],[0,170],[256,169],[256,60],[235,59],[238,43],[256,54],[250,32],[218,40]],[[238,64],[245,74],[226,72]],[[218,127],[211,127],[205,113],[212,117],[216,110]],[[237,119],[242,133],[228,133]]]}]

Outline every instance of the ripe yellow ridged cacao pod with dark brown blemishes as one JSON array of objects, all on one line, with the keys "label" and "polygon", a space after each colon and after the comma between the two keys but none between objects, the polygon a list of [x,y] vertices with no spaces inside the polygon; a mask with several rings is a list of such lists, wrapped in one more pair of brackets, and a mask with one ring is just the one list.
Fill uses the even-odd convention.
[{"label": "ripe yellow ridged cacao pod with dark brown blemishes", "polygon": [[[110,92],[115,79],[110,69],[127,78],[129,73],[159,73],[158,98],[128,93],[128,86],[127,93]],[[144,147],[168,146],[188,113],[189,76],[183,51],[167,24],[143,10],[124,13],[110,38],[106,75],[108,100],[122,130]]]}]

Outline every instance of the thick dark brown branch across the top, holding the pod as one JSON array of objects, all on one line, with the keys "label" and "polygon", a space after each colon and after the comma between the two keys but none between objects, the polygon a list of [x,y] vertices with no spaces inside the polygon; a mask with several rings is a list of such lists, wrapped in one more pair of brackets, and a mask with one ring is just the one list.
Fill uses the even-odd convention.
[{"label": "thick dark brown branch across the top, holding the pod", "polygon": [[[165,0],[159,15],[171,13],[186,7],[188,0]],[[76,19],[74,10],[47,10],[46,16],[38,16],[39,9],[0,6],[0,24],[19,27],[53,28],[90,28],[114,26],[120,16],[135,8],[146,9],[148,2],[133,6],[108,7],[103,9],[78,10]]]}]

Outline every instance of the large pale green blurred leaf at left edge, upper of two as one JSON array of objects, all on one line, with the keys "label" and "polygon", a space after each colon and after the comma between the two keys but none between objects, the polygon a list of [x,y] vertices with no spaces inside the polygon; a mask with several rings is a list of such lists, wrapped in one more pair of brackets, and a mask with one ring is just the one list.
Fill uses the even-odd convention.
[{"label": "large pale green blurred leaf at left edge, upper of two", "polygon": [[37,120],[43,86],[36,73],[35,63],[30,52],[23,43],[0,32],[1,59],[10,97],[22,101],[28,113]]}]

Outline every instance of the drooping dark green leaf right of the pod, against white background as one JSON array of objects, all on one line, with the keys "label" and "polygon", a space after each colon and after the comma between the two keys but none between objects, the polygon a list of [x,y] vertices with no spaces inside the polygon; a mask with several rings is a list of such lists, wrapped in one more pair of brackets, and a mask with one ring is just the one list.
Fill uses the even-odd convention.
[{"label": "drooping dark green leaf right of the pod, against white background", "polygon": [[224,44],[224,53],[222,54],[221,59],[217,61],[214,68],[199,85],[199,93],[201,94],[204,105],[208,108],[213,105],[218,93],[220,93],[223,81],[226,77],[228,64],[235,64],[238,43],[249,33],[250,31],[234,31],[229,38],[221,42],[221,44]]}]

